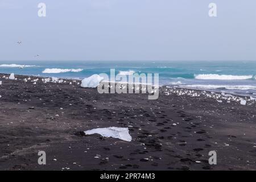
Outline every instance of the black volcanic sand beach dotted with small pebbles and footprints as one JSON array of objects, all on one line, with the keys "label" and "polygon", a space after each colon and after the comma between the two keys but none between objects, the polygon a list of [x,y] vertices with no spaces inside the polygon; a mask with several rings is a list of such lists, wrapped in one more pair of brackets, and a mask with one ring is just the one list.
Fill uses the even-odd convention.
[{"label": "black volcanic sand beach dotted with small pebbles and footprints", "polygon": [[[69,81],[33,85],[20,80],[28,76],[0,76],[2,170],[256,169],[255,105],[162,91],[148,100],[147,94],[99,94]],[[110,126],[129,127],[133,140],[80,132]],[[212,150],[217,165],[208,163]],[[46,165],[38,164],[38,151],[46,151]]]}]

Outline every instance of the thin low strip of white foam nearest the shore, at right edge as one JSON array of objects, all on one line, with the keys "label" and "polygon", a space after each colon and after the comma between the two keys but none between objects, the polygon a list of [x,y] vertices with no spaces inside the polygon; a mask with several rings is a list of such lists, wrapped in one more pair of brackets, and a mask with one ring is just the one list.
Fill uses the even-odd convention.
[{"label": "thin low strip of white foam nearest the shore, at right edge", "polygon": [[225,88],[230,90],[256,90],[253,85],[182,85],[187,88],[200,88],[200,89],[218,89]]}]

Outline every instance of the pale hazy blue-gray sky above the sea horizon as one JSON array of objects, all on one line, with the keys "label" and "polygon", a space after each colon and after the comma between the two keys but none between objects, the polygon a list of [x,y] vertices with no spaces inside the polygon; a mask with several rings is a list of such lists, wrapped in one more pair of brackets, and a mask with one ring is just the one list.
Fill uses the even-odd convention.
[{"label": "pale hazy blue-gray sky above the sea horizon", "polygon": [[[40,2],[45,18],[38,17]],[[216,18],[208,16],[210,2]],[[40,60],[256,60],[256,1],[0,0],[0,60],[38,54]]]}]

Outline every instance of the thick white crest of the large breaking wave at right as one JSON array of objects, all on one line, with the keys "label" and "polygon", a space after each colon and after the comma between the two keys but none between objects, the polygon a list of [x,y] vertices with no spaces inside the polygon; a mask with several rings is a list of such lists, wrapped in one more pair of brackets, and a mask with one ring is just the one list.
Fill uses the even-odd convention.
[{"label": "thick white crest of the large breaking wave at right", "polygon": [[217,75],[217,74],[200,74],[194,75],[198,80],[247,80],[253,78],[253,75]]}]

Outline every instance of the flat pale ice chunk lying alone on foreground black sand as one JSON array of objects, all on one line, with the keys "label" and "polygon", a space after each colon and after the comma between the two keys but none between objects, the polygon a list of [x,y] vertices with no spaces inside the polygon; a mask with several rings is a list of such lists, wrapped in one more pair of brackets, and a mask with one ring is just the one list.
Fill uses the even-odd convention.
[{"label": "flat pale ice chunk lying alone on foreground black sand", "polygon": [[85,135],[100,134],[102,137],[112,137],[131,142],[131,135],[127,127],[108,127],[84,131]]}]

